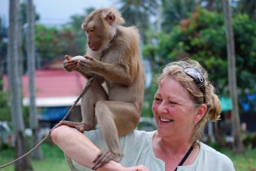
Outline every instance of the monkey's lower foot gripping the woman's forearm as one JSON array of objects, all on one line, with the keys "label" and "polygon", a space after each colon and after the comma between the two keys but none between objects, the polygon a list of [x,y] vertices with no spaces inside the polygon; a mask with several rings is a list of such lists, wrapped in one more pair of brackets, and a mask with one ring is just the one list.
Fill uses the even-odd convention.
[{"label": "monkey's lower foot gripping the woman's forearm", "polygon": [[92,170],[97,170],[97,168],[102,167],[103,165],[108,163],[108,161],[110,161],[110,160],[113,160],[113,161],[116,161],[119,163],[119,161],[121,161],[122,158],[123,158],[122,153],[114,153],[114,152],[110,152],[110,151],[100,151],[97,158],[95,158],[95,160],[93,160],[94,165],[92,167]]}]

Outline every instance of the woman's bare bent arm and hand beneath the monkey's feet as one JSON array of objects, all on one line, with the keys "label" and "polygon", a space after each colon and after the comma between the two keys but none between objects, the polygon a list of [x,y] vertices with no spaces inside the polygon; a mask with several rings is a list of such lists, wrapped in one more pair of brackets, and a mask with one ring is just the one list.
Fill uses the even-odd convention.
[{"label": "woman's bare bent arm and hand beneath the monkey's feet", "polygon": [[[75,160],[84,167],[92,168],[93,160],[99,154],[100,149],[96,147],[83,133],[80,133],[68,126],[55,128],[51,137],[53,142],[72,160]],[[147,170],[143,165],[124,168],[120,163],[109,161],[102,168],[97,170]]]}]

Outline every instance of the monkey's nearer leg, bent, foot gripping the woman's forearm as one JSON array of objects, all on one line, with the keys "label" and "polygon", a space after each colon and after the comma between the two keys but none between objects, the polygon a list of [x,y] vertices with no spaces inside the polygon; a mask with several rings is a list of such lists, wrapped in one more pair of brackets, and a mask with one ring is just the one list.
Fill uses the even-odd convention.
[{"label": "monkey's nearer leg, bent, foot gripping the woman's forearm", "polygon": [[95,114],[109,151],[101,151],[98,154],[93,161],[95,163],[93,170],[102,167],[110,160],[116,162],[122,160],[119,136],[126,135],[136,128],[140,120],[140,109],[132,103],[98,101]]}]

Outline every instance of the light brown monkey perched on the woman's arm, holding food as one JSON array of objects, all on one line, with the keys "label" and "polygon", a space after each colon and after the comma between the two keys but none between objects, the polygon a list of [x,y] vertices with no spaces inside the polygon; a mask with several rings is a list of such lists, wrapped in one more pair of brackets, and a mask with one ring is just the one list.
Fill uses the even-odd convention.
[{"label": "light brown monkey perched on the woman's arm, holding food", "polygon": [[[101,151],[93,169],[109,160],[119,162],[123,154],[120,136],[127,135],[139,123],[143,105],[144,72],[139,50],[140,35],[136,27],[124,27],[124,19],[113,8],[95,10],[82,24],[87,34],[84,59],[65,56],[63,67],[95,78],[81,100],[82,123],[60,124],[84,130],[99,124],[108,151]],[[102,87],[106,83],[107,89]]]}]

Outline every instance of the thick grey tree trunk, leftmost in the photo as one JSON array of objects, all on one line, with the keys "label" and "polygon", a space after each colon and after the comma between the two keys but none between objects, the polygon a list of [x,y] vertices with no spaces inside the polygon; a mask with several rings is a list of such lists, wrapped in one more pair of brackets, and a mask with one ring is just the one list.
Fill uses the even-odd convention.
[{"label": "thick grey tree trunk, leftmost in the photo", "polygon": [[[21,78],[19,74],[19,0],[10,0],[10,15],[8,29],[8,79],[10,80],[10,99],[12,102],[12,121],[15,131],[15,158],[26,153],[26,138],[24,137],[24,121],[22,117]],[[15,163],[16,171],[32,170],[28,156]]]}]

